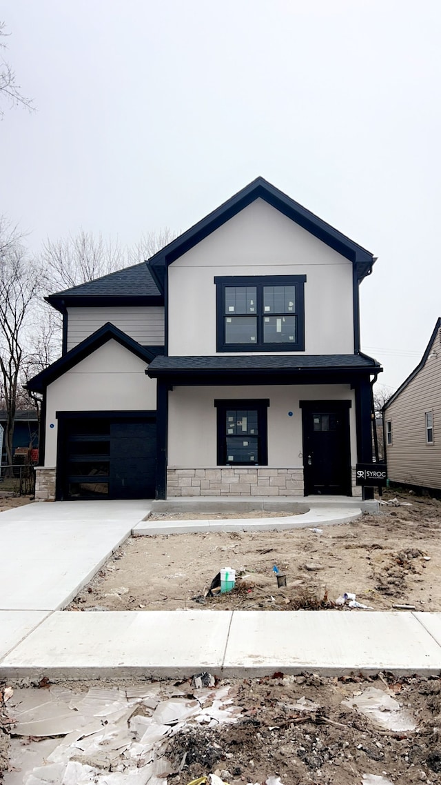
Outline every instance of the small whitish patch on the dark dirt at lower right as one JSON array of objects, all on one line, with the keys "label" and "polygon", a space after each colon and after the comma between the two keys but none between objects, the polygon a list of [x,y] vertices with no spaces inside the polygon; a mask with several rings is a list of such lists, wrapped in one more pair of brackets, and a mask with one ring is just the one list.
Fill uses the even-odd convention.
[{"label": "small whitish patch on the dark dirt at lower right", "polygon": [[[355,696],[342,701],[344,706],[356,709],[366,717],[390,731],[413,731],[417,727],[414,717],[392,698],[392,693],[387,690],[368,687],[363,692],[359,690]],[[377,782],[377,780],[372,780]]]}]

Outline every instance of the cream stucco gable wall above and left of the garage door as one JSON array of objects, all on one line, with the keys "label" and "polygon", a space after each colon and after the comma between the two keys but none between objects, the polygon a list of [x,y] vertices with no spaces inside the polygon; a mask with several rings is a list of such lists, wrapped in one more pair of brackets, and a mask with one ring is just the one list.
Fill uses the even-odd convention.
[{"label": "cream stucco gable wall above and left of the garage door", "polygon": [[57,411],[155,410],[156,382],[146,376],[146,367],[111,340],[49,385],[45,466],[56,465]]}]

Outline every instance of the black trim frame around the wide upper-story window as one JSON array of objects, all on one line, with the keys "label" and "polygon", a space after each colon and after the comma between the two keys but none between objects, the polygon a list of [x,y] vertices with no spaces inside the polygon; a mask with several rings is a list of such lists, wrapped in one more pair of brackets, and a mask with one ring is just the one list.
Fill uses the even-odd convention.
[{"label": "black trim frame around the wide upper-story window", "polygon": [[[304,352],[304,283],[306,276],[215,276],[216,284],[216,350],[217,352]],[[226,287],[296,287],[296,316],[297,316],[297,341],[290,343],[260,343],[253,344],[227,344],[224,336],[224,302]],[[257,313],[257,320],[264,317]]]}]

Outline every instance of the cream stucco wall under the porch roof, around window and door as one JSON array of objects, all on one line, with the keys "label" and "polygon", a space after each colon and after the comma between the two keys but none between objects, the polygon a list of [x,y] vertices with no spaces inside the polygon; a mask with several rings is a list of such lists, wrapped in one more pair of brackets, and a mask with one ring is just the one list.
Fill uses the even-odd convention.
[{"label": "cream stucco wall under the porch roof, around window and door", "polygon": [[[356,463],[355,396],[349,385],[176,387],[169,392],[169,466],[217,465],[214,400],[268,398],[268,466],[303,465],[301,400],[350,400],[351,462]],[[288,414],[293,412],[293,416]]]}]

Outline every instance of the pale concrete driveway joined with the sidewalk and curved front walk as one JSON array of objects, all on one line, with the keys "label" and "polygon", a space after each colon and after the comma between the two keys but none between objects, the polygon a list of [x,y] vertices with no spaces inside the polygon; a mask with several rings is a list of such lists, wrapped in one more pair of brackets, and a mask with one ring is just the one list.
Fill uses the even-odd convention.
[{"label": "pale concrete driveway joined with the sidewalk and curved front walk", "polygon": [[[330,523],[338,507],[320,502],[319,520],[293,524]],[[60,611],[130,531],[148,528],[150,507],[56,502],[0,514],[0,679],[441,672],[441,614]],[[347,520],[361,514],[349,508]]]}]

